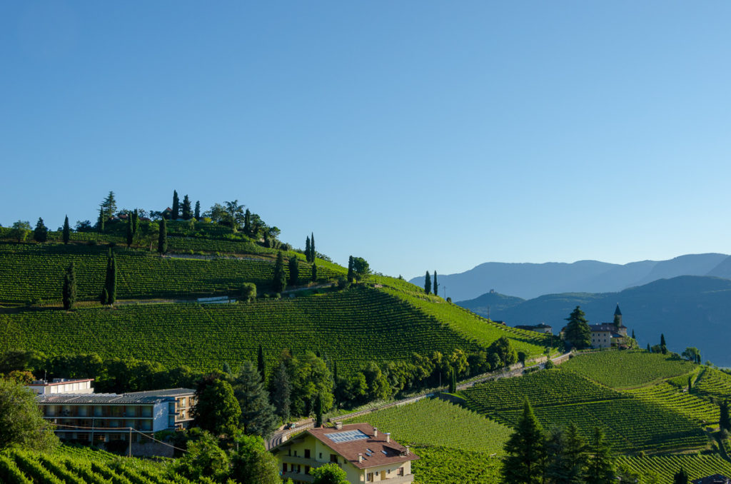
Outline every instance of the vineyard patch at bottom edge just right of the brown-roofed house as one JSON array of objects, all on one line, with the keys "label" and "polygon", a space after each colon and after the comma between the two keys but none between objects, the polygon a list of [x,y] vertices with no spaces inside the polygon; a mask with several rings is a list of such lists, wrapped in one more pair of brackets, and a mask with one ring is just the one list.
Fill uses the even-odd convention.
[{"label": "vineyard patch at bottom edge just right of the brown-roofed house", "polygon": [[482,452],[450,447],[414,447],[419,455],[412,462],[414,483],[498,483],[502,461]]}]

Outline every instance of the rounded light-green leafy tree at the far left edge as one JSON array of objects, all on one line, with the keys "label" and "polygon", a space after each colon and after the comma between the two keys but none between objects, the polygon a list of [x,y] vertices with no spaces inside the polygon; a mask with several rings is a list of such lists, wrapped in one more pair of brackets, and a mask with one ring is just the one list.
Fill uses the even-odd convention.
[{"label": "rounded light-green leafy tree at the far left edge", "polygon": [[34,393],[22,383],[0,378],[0,450],[11,446],[51,450],[58,445],[53,428],[42,417]]}]

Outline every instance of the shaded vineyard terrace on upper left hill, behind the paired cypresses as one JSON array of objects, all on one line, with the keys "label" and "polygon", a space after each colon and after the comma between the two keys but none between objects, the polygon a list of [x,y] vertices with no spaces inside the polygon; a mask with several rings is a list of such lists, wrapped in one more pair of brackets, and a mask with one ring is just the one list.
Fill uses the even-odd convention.
[{"label": "shaded vineyard terrace on upper left hill, behind the paired cypresses", "polygon": [[[115,248],[117,295],[128,298],[191,298],[238,292],[243,282],[268,289],[274,273],[270,260],[184,259]],[[71,261],[80,300],[96,300],[104,284],[107,248],[0,243],[0,303],[61,299],[61,277]],[[288,271],[285,264],[285,270]],[[319,279],[338,276],[319,267]],[[311,266],[300,264],[300,282],[311,277]]]}]

